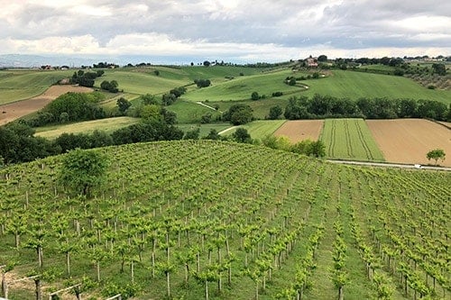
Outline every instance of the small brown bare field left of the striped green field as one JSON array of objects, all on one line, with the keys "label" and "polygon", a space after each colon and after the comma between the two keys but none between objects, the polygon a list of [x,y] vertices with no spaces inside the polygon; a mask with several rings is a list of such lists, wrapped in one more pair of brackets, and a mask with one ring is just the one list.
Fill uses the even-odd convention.
[{"label": "small brown bare field left of the striped green field", "polygon": [[323,129],[323,123],[323,120],[287,121],[274,132],[274,135],[284,135],[293,143],[304,140],[317,141]]}]

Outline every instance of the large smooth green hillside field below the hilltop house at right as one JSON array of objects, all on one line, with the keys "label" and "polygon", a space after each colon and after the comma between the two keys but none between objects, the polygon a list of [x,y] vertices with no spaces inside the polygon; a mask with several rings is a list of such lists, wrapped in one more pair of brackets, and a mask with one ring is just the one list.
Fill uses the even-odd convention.
[{"label": "large smooth green hillside field below the hilltop house at right", "polygon": [[333,95],[357,100],[359,97],[387,97],[437,100],[451,104],[451,92],[430,90],[406,77],[368,74],[353,71],[332,71],[332,76],[305,80],[310,88],[302,95]]}]

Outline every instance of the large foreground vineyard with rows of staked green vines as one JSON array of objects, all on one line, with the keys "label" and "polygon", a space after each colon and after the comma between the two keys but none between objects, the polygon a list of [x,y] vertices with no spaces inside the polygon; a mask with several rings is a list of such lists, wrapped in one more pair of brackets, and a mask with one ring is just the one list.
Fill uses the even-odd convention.
[{"label": "large foreground vineyard with rows of staked green vines", "polygon": [[61,157],[0,169],[8,298],[451,297],[450,173],[217,141],[98,151],[110,167],[92,199],[60,186]]}]

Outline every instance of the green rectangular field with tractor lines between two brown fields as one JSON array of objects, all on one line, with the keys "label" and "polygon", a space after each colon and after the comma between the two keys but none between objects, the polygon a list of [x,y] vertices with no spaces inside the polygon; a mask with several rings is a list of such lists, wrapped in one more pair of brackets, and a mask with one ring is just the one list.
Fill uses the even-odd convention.
[{"label": "green rectangular field with tractor lines between two brown fields", "polygon": [[384,160],[363,119],[327,119],[320,139],[331,159]]}]

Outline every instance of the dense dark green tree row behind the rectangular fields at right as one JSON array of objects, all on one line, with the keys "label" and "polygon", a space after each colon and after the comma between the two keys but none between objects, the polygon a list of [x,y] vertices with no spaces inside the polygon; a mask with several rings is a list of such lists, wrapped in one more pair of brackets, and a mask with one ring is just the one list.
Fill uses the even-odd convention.
[{"label": "dense dark green tree row behind the rectangular fields at right", "polygon": [[323,118],[428,118],[451,120],[451,107],[435,100],[365,98],[357,101],[331,95],[292,96],[285,107],[288,120]]}]

